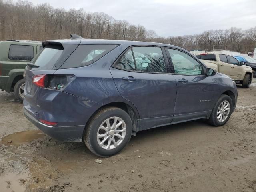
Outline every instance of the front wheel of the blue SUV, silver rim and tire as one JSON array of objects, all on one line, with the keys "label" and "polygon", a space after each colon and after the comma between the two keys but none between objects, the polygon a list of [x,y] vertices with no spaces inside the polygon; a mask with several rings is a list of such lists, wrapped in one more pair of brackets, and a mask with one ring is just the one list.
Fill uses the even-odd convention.
[{"label": "front wheel of the blue SUV, silver rim and tire", "polygon": [[222,126],[229,120],[232,111],[232,99],[228,95],[222,95],[214,105],[208,122],[213,126]]}]

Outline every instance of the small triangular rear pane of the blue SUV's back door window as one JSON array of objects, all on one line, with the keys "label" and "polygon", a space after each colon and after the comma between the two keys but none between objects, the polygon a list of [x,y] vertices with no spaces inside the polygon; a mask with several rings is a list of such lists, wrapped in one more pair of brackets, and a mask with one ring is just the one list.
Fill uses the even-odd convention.
[{"label": "small triangular rear pane of the blue SUV's back door window", "polygon": [[135,70],[135,63],[132,56],[132,50],[128,49],[124,56],[120,59],[120,61],[116,64],[118,68],[126,69],[126,70]]}]

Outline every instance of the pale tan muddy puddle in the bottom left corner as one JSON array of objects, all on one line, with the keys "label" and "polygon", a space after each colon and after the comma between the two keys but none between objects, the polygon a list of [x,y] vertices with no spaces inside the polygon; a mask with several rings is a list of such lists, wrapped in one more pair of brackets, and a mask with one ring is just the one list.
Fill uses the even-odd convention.
[{"label": "pale tan muddy puddle in the bottom left corner", "polygon": [[28,178],[27,173],[8,173],[0,177],[1,192],[24,192],[26,190],[26,183]]}]

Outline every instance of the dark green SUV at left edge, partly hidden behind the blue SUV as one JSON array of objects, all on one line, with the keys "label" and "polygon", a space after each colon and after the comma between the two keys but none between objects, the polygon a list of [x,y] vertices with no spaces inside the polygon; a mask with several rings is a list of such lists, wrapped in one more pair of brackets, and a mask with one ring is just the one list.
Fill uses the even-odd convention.
[{"label": "dark green SUV at left edge, partly hidden behind the blue SUV", "polygon": [[0,41],[0,89],[14,92],[22,102],[24,98],[24,68],[40,50],[42,42],[26,40]]}]

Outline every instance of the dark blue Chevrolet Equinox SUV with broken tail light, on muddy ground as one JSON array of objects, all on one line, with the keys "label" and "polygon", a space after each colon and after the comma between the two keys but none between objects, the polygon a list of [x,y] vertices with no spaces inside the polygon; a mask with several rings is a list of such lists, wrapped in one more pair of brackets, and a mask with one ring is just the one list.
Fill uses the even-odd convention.
[{"label": "dark blue Chevrolet Equinox SUV with broken tail light, on muddy ground", "polygon": [[24,114],[49,136],[82,142],[98,156],[136,132],[206,119],[224,125],[236,84],[188,51],[119,40],[50,40],[28,63]]}]

